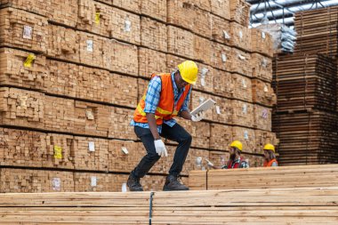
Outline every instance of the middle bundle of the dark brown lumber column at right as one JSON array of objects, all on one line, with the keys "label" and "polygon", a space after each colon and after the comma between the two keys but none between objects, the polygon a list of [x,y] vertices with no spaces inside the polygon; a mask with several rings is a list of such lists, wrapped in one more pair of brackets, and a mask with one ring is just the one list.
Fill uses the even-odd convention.
[{"label": "middle bundle of the dark brown lumber column at right", "polygon": [[325,55],[285,55],[274,60],[278,112],[317,108],[334,110],[337,68]]}]

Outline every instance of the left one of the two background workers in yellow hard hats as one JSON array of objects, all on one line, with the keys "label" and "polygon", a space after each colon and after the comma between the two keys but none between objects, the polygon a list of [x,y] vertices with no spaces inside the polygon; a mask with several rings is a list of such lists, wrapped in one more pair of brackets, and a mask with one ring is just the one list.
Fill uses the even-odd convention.
[{"label": "left one of the two background workers in yellow hard hats", "polygon": [[241,141],[232,141],[229,149],[229,161],[227,165],[220,167],[214,166],[212,163],[208,163],[213,169],[235,169],[235,168],[249,168],[249,164],[245,161],[244,157],[240,154],[243,150],[243,144]]}]

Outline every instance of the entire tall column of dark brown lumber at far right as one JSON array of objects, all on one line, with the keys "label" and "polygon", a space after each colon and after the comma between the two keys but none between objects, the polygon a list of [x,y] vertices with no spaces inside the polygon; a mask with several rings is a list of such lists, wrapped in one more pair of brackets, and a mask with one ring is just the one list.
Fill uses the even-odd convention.
[{"label": "entire tall column of dark brown lumber at far right", "polygon": [[338,163],[337,12],[295,13],[295,54],[273,60],[280,165]]}]

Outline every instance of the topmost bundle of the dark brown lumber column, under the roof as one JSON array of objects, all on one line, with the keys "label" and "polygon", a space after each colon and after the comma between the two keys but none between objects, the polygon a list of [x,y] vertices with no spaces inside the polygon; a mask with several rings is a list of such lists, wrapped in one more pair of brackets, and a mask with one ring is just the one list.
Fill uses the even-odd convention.
[{"label": "topmost bundle of the dark brown lumber column, under the roof", "polygon": [[338,54],[338,6],[296,12],[297,32],[295,53]]}]

